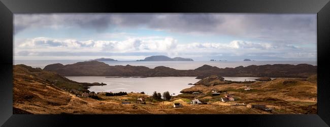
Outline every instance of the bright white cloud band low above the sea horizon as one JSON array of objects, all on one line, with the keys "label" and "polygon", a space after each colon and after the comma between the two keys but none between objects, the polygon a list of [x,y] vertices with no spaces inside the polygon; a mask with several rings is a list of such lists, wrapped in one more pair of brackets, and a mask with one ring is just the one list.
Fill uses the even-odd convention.
[{"label": "bright white cloud band low above the sea horizon", "polygon": [[[21,40],[20,40],[21,41]],[[124,41],[80,41],[75,39],[33,38],[15,43],[15,56],[105,56],[113,55],[132,58],[165,54],[171,57],[203,55],[227,56],[270,56],[282,58],[316,58],[316,54],[294,45],[273,45],[235,40],[229,43],[194,42],[178,44],[171,37],[129,38]],[[286,53],[285,53],[286,52]],[[110,53],[110,54],[109,54]],[[139,53],[139,54],[137,54]],[[139,57],[140,58],[140,57]]]}]

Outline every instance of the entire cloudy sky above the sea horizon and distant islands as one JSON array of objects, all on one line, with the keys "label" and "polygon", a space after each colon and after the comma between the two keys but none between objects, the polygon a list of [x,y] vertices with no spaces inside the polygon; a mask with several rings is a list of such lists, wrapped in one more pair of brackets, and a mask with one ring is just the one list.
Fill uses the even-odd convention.
[{"label": "entire cloudy sky above the sea horizon and distant islands", "polygon": [[316,14],[15,14],[14,60],[316,60]]}]

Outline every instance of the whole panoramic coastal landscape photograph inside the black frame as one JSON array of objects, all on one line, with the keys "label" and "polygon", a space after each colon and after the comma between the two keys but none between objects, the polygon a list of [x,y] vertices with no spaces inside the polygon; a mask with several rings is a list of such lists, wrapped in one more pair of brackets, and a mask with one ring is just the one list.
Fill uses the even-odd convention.
[{"label": "whole panoramic coastal landscape photograph inside the black frame", "polygon": [[317,14],[13,17],[13,114],[317,114]]}]

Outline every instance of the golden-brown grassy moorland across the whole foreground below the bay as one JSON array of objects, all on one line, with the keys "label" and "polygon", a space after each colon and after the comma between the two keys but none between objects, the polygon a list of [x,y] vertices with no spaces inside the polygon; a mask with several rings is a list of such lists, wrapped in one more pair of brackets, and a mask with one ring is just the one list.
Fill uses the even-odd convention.
[{"label": "golden-brown grassy moorland across the whole foreground below the bay", "polygon": [[[159,67],[157,70],[167,70]],[[40,68],[16,65],[13,68],[13,113],[14,114],[307,114],[317,111],[317,76],[307,79],[278,78],[267,82],[248,84],[210,84],[214,80],[222,81],[218,76],[206,77],[199,85],[189,91],[172,96],[169,101],[153,100],[141,93],[128,93],[125,96],[108,97],[98,93],[98,99],[80,98],[66,90],[83,89],[91,83],[79,83],[62,77],[55,72]],[[57,83],[54,81],[57,80]],[[245,85],[251,87],[245,91]],[[64,88],[61,88],[64,87]],[[66,88],[65,88],[66,87]],[[221,94],[212,96],[211,91]],[[198,91],[201,94],[191,94]],[[221,102],[226,92],[235,96],[234,102]],[[136,103],[145,98],[146,104]],[[189,104],[192,99],[207,102],[207,105]],[[126,100],[126,101],[123,101]],[[122,104],[130,102],[130,104]],[[173,108],[174,103],[184,107]],[[272,112],[252,109],[235,104],[266,104]]]}]

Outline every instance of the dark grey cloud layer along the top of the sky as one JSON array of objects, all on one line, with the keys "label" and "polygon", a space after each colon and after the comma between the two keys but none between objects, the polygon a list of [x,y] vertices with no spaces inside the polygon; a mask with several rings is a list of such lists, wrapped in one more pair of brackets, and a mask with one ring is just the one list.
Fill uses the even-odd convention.
[{"label": "dark grey cloud layer along the top of the sky", "polygon": [[187,34],[228,35],[279,43],[316,43],[315,14],[15,14],[15,32],[34,27],[145,26]]}]

